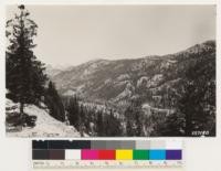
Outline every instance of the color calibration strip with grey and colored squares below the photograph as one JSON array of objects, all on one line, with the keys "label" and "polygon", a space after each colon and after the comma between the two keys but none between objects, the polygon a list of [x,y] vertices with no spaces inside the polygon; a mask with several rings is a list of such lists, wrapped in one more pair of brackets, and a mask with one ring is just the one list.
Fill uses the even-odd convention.
[{"label": "color calibration strip with grey and colored squares below the photograph", "polygon": [[181,140],[33,140],[34,169],[182,167]]}]

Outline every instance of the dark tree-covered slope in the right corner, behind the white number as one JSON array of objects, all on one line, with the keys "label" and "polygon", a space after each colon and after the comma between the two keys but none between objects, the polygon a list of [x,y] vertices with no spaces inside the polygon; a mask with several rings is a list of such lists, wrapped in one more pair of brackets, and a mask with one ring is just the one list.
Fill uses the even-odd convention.
[{"label": "dark tree-covered slope in the right corner, behind the white number", "polygon": [[156,126],[152,136],[215,135],[215,44],[211,42],[210,46],[213,49],[190,56],[188,64],[181,58],[180,63],[185,63],[186,70],[179,88],[180,96],[171,96],[169,100],[176,104],[171,105],[175,113]]}]

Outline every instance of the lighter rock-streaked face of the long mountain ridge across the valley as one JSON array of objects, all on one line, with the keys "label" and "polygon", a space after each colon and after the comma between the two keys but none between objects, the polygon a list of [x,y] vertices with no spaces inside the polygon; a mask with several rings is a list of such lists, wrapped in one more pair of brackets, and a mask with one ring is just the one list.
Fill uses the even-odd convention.
[{"label": "lighter rock-streaked face of the long mountain ridge across the valley", "polygon": [[[182,72],[198,56],[215,52],[215,42],[206,41],[185,51],[162,56],[151,55],[139,58],[95,60],[62,71],[52,77],[62,95],[77,95],[87,100],[98,99],[125,104],[145,94],[162,96],[162,89],[170,90],[185,81]],[[151,94],[151,95],[149,95]],[[152,99],[148,100],[152,101]]]}]

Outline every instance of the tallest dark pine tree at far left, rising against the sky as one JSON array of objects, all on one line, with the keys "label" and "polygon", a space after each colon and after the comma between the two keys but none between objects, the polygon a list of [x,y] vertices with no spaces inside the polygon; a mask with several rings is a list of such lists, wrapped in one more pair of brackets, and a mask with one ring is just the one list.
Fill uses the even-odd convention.
[{"label": "tallest dark pine tree at far left, rising against the sky", "polygon": [[43,64],[36,60],[32,49],[36,35],[36,23],[30,19],[24,6],[19,6],[19,14],[7,21],[7,96],[20,103],[23,115],[24,104],[38,104],[44,93],[46,75]]}]

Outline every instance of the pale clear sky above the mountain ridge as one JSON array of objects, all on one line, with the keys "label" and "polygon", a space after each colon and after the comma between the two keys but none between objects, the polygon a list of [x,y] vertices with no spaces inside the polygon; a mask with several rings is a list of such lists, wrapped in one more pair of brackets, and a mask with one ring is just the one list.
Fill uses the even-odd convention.
[{"label": "pale clear sky above the mountain ridge", "polygon": [[[27,6],[34,53],[53,66],[165,55],[215,40],[215,6]],[[18,12],[8,6],[7,19]]]}]

